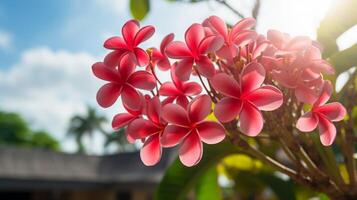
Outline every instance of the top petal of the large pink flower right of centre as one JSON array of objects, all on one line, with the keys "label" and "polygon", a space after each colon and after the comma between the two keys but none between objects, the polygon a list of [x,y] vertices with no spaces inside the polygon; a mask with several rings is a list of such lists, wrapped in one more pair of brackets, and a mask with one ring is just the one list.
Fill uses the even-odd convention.
[{"label": "top petal of the large pink flower right of centre", "polygon": [[264,67],[257,63],[251,62],[243,68],[241,74],[242,94],[259,88],[265,79]]}]

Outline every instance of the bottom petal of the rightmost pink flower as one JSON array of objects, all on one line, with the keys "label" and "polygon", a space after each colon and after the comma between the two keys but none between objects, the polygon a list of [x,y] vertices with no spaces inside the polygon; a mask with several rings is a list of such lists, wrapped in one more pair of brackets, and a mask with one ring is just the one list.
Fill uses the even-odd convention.
[{"label": "bottom petal of the rightmost pink flower", "polygon": [[319,132],[324,146],[330,146],[336,138],[336,127],[324,117],[319,117]]}]

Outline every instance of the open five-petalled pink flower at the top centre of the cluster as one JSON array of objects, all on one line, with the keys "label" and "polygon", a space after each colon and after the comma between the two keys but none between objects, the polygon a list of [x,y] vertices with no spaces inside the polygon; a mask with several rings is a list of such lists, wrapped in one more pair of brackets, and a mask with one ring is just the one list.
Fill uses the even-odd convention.
[{"label": "open five-petalled pink flower at the top centre of the cluster", "polygon": [[205,36],[201,24],[191,25],[185,33],[185,41],[174,41],[166,47],[166,53],[170,58],[181,59],[176,67],[176,75],[183,81],[190,78],[192,67],[195,64],[198,72],[211,78],[215,74],[215,68],[207,53],[218,50],[223,44],[221,36]]}]

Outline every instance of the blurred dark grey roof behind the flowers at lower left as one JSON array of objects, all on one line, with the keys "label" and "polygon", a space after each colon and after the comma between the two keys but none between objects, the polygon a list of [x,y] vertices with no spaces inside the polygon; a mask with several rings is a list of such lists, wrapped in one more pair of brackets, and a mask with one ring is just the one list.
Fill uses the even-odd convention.
[{"label": "blurred dark grey roof behind the flowers at lower left", "polygon": [[173,154],[174,151],[165,151],[159,164],[147,167],[142,164],[139,152],[91,156],[3,146],[0,147],[0,186],[14,181],[156,185]]}]

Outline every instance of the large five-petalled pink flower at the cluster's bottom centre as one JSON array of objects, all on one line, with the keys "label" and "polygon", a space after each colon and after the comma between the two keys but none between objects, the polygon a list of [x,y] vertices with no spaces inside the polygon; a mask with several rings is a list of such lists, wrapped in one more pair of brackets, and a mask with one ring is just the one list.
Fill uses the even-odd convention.
[{"label": "large five-petalled pink flower at the cluster's bottom centre", "polygon": [[211,113],[211,99],[208,95],[193,99],[187,109],[177,104],[163,107],[163,117],[170,123],[162,135],[161,144],[173,147],[181,143],[179,157],[185,166],[194,166],[202,158],[202,142],[216,144],[225,138],[221,124],[205,121]]}]

